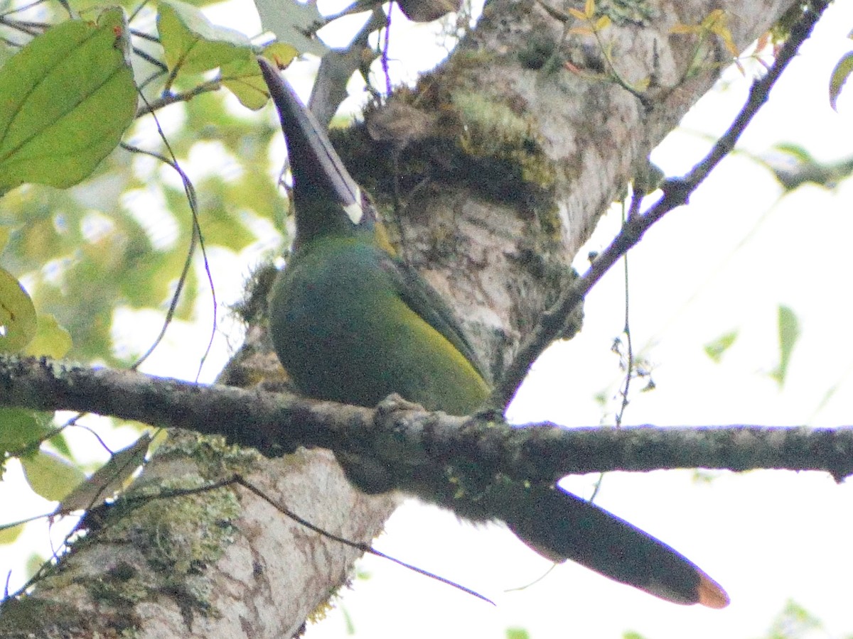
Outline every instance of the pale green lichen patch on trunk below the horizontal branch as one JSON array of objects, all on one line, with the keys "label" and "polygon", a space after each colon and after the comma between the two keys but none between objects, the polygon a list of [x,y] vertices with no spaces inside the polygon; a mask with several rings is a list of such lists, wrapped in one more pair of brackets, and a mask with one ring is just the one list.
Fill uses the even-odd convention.
[{"label": "pale green lichen patch on trunk below the horizontal branch", "polygon": [[[171,596],[187,624],[195,613],[216,614],[206,567],[234,542],[234,521],[241,505],[230,486],[191,492],[235,473],[248,473],[258,453],[228,446],[221,437],[178,432],[157,452],[162,466],[174,459],[188,469],[167,479],[138,481],[108,506],[97,529],[79,546],[97,543],[131,546],[144,557],[147,570],[119,564],[97,579],[73,576],[96,602],[130,612],[138,602]],[[168,507],[165,507],[168,500]]]}]

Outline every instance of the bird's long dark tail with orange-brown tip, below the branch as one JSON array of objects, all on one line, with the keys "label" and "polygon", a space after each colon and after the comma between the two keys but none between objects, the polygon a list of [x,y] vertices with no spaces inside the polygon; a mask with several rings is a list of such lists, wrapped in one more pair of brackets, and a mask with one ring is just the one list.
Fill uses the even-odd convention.
[{"label": "bird's long dark tail with orange-brown tip, below the branch", "polygon": [[670,602],[722,608],[728,595],[692,561],[650,534],[560,487],[527,486],[503,517],[540,555],[571,559]]}]

